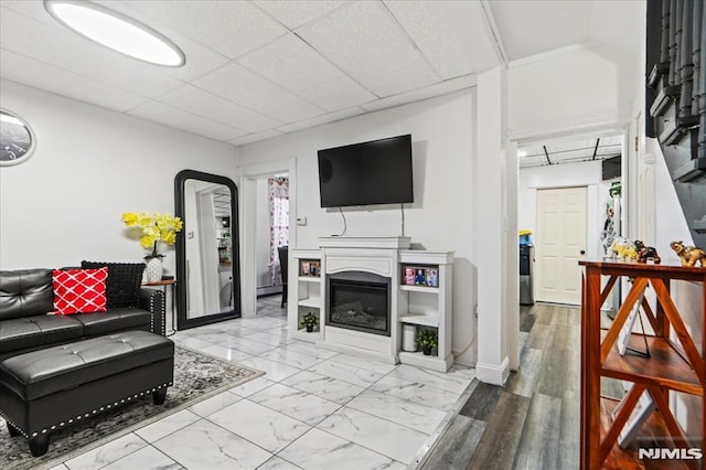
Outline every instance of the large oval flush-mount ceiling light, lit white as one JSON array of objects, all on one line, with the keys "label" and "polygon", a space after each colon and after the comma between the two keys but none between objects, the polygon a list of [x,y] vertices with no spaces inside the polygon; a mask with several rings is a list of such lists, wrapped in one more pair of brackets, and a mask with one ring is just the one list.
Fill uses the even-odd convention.
[{"label": "large oval flush-mount ceiling light, lit white", "polygon": [[60,23],[98,44],[130,57],[168,67],[186,63],[184,53],[147,24],[87,1],[44,0]]}]

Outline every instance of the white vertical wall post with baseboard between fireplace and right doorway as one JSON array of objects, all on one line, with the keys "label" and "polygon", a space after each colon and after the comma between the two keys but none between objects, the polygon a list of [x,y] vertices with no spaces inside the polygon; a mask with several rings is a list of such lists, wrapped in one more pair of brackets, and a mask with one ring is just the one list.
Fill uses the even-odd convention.
[{"label": "white vertical wall post with baseboard between fireplace and right doorway", "polygon": [[[475,376],[503,385],[517,367],[520,330],[516,244],[516,158],[506,152],[506,71],[478,77],[477,151],[473,161],[474,266],[478,269],[478,362]],[[509,158],[510,157],[510,158]],[[515,168],[510,171],[510,167]],[[510,244],[507,232],[514,243]],[[510,270],[510,264],[514,269]]]}]

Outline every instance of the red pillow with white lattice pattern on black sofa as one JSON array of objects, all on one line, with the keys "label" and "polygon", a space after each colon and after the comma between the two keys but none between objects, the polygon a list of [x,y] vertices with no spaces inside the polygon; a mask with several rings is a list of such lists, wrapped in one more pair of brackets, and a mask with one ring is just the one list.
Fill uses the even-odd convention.
[{"label": "red pillow with white lattice pattern on black sofa", "polygon": [[106,311],[108,268],[54,269],[54,311],[51,314],[94,313]]}]

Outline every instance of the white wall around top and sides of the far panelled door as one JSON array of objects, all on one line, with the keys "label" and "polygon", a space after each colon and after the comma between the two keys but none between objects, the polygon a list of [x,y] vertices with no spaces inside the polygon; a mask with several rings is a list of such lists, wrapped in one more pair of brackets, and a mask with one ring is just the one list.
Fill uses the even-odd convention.
[{"label": "white wall around top and sides of the far panelled door", "polygon": [[588,259],[600,258],[603,255],[600,233],[606,222],[606,203],[610,199],[610,184],[601,179],[600,161],[520,169],[517,226],[536,232],[538,189],[588,186],[586,255]]}]

